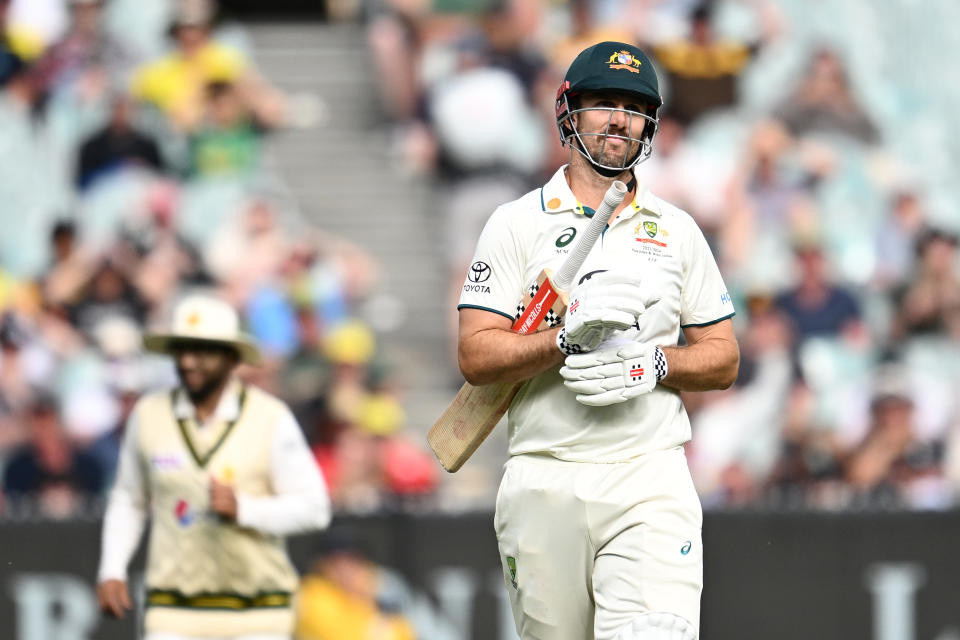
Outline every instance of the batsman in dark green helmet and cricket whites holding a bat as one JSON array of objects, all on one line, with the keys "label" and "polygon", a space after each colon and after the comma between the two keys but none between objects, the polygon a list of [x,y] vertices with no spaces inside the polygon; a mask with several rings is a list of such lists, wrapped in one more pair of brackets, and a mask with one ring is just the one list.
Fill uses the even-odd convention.
[{"label": "batsman in dark green helmet and cricket whites holding a bat", "polygon": [[[570,162],[493,213],[474,258],[489,276],[460,299],[466,379],[526,381],[495,517],[524,640],[698,637],[702,511],[680,391],[729,387],[739,351],[702,232],[635,175],[661,104],[636,47],[580,53],[556,104]],[[511,332],[525,283],[557,268],[617,179],[630,193],[574,280],[564,326]]]}]

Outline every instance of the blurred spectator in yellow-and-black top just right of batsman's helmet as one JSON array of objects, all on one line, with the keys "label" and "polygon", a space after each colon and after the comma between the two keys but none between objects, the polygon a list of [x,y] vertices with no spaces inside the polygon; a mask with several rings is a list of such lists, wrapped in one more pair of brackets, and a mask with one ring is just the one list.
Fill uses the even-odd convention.
[{"label": "blurred spectator in yellow-and-black top just right of batsman's helmet", "polygon": [[[766,37],[774,34],[770,27]],[[651,48],[666,72],[671,117],[690,125],[711,111],[736,106],[740,76],[760,46],[720,39],[713,27],[713,2],[695,6],[685,39],[654,43]]]}]

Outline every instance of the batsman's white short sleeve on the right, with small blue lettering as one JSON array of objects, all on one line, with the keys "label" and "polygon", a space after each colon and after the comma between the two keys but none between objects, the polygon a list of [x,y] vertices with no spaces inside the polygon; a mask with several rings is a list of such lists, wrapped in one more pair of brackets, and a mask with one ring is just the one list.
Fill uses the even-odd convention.
[{"label": "batsman's white short sleeve on the right, with small blue lettering", "polygon": [[693,220],[688,224],[690,242],[680,293],[680,326],[706,326],[733,316],[735,311],[707,239]]}]

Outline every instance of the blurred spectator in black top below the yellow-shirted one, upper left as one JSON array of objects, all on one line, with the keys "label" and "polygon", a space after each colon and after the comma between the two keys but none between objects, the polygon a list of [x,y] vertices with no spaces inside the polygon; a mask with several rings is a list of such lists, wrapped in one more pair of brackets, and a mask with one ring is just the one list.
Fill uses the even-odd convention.
[{"label": "blurred spectator in black top below the yellow-shirted one, upper left", "polygon": [[133,103],[126,95],[113,97],[110,121],[80,146],[76,184],[81,190],[124,167],[164,170],[157,143],[133,125]]}]

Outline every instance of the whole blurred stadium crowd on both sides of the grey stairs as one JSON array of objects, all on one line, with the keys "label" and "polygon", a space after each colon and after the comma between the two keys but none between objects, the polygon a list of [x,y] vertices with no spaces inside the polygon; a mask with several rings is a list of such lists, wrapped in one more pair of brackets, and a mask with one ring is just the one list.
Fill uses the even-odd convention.
[{"label": "whole blurred stadium crowd on both sides of the grey stairs", "polygon": [[[566,161],[570,61],[636,42],[665,98],[641,176],[697,220],[738,310],[737,384],[686,398],[705,505],[956,504],[960,212],[909,144],[914,80],[864,71],[799,0],[328,8],[367,30],[389,161],[436,186],[451,330],[487,217]],[[140,334],[197,287],[242,310],[269,354],[242,375],[295,408],[337,508],[430,504],[438,467],[360,311],[380,265],[297,213],[264,162],[290,101],[217,18],[212,0],[0,0],[7,513],[102,497],[132,403],[174,382]]]}]

